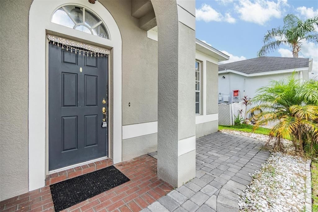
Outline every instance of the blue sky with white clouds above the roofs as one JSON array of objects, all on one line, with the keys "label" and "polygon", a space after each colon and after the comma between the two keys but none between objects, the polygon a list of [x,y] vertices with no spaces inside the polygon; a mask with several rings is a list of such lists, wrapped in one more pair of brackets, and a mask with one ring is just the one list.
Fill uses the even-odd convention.
[{"label": "blue sky with white clouds above the roofs", "polygon": [[[288,13],[307,19],[318,15],[317,0],[197,0],[196,37],[224,53],[232,61],[257,57],[267,30],[283,26]],[[318,30],[317,30],[318,31]],[[267,56],[290,56],[289,46]],[[318,45],[305,42],[300,57],[314,59],[318,73]]]}]

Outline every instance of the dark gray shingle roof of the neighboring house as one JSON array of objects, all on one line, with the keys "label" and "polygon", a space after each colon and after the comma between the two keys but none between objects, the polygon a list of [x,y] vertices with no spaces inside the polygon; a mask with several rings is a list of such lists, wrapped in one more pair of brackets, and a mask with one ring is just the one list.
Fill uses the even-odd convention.
[{"label": "dark gray shingle roof of the neighboring house", "polygon": [[267,71],[278,71],[309,66],[309,58],[292,57],[257,57],[226,63],[218,66],[219,71],[231,69],[245,74],[254,74]]}]

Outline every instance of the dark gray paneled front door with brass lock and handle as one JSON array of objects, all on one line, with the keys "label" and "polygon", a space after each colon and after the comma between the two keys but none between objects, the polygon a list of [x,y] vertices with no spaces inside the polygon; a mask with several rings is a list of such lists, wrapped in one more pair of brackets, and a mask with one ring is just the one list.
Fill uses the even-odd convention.
[{"label": "dark gray paneled front door with brass lock and handle", "polygon": [[49,44],[49,170],[107,156],[107,57]]}]

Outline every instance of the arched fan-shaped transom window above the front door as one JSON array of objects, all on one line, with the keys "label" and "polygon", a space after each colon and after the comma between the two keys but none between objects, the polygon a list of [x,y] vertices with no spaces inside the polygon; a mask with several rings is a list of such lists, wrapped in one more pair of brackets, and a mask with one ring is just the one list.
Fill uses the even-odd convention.
[{"label": "arched fan-shaped transom window above the front door", "polygon": [[62,6],[54,12],[52,22],[109,39],[109,34],[103,21],[82,6]]}]

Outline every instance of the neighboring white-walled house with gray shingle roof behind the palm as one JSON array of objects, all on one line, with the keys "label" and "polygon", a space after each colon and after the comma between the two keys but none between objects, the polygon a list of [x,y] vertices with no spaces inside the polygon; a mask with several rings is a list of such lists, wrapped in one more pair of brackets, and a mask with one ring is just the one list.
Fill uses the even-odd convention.
[{"label": "neighboring white-walled house with gray shingle roof behind the palm", "polygon": [[311,70],[312,59],[290,57],[258,57],[219,65],[219,103],[232,103],[233,90],[239,90],[240,101],[244,95],[253,98],[257,89],[294,71],[297,79],[308,80]]}]

